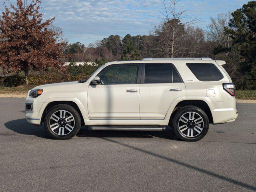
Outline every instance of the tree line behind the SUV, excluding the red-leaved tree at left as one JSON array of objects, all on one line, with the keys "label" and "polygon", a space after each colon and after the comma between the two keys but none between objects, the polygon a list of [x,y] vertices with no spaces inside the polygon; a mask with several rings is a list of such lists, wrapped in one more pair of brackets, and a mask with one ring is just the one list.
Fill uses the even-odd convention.
[{"label": "tree line behind the SUV, excluding the red-leaved tree at left", "polygon": [[206,28],[194,27],[197,19],[182,22],[184,11],[175,12],[176,3],[165,3],[162,23],[149,35],[110,35],[87,48],[80,42],[68,44],[65,52],[71,57],[66,61],[210,57],[225,60],[232,78],[256,78],[256,1],[211,17]]}]

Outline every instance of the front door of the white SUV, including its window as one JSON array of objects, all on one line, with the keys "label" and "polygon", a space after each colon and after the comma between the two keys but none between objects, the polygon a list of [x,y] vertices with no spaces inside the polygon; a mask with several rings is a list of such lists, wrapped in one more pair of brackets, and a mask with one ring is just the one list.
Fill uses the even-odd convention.
[{"label": "front door of the white SUV, including its window", "polygon": [[114,64],[98,74],[101,84],[88,88],[90,119],[140,119],[139,68],[140,64]]}]

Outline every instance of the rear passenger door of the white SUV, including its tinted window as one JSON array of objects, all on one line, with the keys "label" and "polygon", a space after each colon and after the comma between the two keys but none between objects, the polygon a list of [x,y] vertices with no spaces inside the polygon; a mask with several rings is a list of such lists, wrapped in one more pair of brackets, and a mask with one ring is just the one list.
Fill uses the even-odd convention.
[{"label": "rear passenger door of the white SUV, including its tinted window", "polygon": [[140,84],[140,118],[162,120],[174,99],[186,96],[185,84],[170,63],[146,63]]}]

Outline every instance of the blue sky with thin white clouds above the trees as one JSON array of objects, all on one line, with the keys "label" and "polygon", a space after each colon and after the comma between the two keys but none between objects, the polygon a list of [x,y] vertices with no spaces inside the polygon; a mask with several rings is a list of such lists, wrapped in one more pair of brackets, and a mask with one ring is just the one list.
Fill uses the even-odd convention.
[{"label": "blue sky with thin white clouds above the trees", "polygon": [[[4,1],[0,0],[1,10]],[[188,10],[189,18],[200,19],[195,25],[205,28],[210,17],[232,12],[247,2],[180,0],[177,9]],[[68,42],[81,42],[86,46],[111,34],[147,35],[160,23],[160,12],[164,8],[163,0],[41,0],[41,7],[45,19],[56,16],[54,25],[62,28]]]}]

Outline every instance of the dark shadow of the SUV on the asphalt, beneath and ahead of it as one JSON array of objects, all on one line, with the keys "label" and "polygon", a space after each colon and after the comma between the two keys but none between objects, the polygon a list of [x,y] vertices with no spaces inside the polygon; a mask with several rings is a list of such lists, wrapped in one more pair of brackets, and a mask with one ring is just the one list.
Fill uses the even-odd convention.
[{"label": "dark shadow of the SUV on the asphalt, beneath and ahead of it", "polygon": [[[40,138],[50,139],[46,133],[44,126],[36,126],[27,122],[25,118],[12,120],[4,123],[7,129],[10,129],[18,134],[34,135]],[[172,128],[166,131],[90,131],[86,126],[82,126],[78,137],[95,137],[95,138],[164,138],[170,140],[178,140]]]}]

